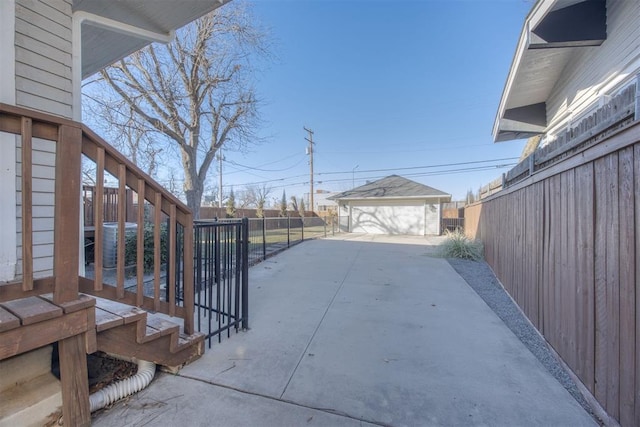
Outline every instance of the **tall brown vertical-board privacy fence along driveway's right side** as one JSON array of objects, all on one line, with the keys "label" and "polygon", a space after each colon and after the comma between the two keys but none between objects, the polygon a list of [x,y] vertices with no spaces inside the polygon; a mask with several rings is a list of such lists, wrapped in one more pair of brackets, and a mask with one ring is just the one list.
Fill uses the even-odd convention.
[{"label": "tall brown vertical-board privacy fence along driveway's right side", "polygon": [[640,124],[467,207],[465,220],[602,407],[640,425]]}]

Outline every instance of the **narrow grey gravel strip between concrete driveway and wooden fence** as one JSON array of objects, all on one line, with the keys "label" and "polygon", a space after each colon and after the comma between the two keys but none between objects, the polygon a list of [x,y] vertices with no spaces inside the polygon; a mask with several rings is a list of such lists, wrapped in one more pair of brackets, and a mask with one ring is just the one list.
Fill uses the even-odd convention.
[{"label": "narrow grey gravel strip between concrete driveway and wooden fence", "polygon": [[551,354],[538,331],[529,323],[520,309],[504,290],[491,267],[484,261],[448,258],[449,264],[476,291],[485,303],[502,319],[509,329],[538,358],[540,363],[567,389],[591,416],[591,406],[576,387],[569,374]]}]

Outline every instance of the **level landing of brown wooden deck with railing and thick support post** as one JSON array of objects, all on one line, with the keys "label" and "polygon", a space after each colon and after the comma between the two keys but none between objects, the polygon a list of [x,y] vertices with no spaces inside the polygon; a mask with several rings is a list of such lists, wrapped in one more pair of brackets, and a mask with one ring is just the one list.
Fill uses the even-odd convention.
[{"label": "level landing of brown wooden deck with railing and thick support post", "polygon": [[[78,293],[82,127],[68,120],[0,104],[0,132],[20,135],[22,223],[19,230],[21,272],[18,280],[0,284],[0,303],[3,303],[0,360],[57,342],[65,423],[89,425],[86,353],[95,351],[96,338],[95,301],[83,300]],[[37,277],[42,273],[34,272],[33,259],[34,236],[41,231],[39,224],[34,227],[34,206],[40,209],[40,197],[34,200],[33,145],[40,143],[38,139],[55,143],[54,233],[53,242],[49,242],[53,243],[53,265],[45,268],[53,270],[53,274],[44,274],[47,277]],[[13,141],[2,147],[3,156],[14,158]],[[44,198],[50,200],[48,196]],[[5,220],[13,221],[13,218]],[[49,293],[53,294],[50,298],[29,298]],[[4,322],[7,319],[9,324]]]}]

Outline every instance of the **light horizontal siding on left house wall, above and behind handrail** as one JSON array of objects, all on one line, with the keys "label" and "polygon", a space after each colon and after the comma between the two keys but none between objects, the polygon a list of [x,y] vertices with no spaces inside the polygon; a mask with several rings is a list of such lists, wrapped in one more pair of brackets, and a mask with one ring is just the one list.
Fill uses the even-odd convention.
[{"label": "light horizontal siding on left house wall, above and behind handrail", "polygon": [[[0,0],[3,1],[3,0]],[[71,0],[15,0],[15,104],[72,118]],[[34,277],[53,273],[55,143],[33,140]],[[21,149],[16,143],[16,279],[22,272]],[[3,188],[3,191],[5,189]]]}]

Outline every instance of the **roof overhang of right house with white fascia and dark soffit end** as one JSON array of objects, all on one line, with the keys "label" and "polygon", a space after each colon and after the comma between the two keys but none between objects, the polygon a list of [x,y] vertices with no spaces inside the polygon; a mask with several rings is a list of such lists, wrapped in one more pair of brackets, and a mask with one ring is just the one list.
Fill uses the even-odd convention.
[{"label": "roof overhang of right house with white fascia and dark soffit end", "polygon": [[538,0],[527,16],[493,126],[495,142],[547,128],[546,102],[575,49],[607,38],[606,0]]}]

